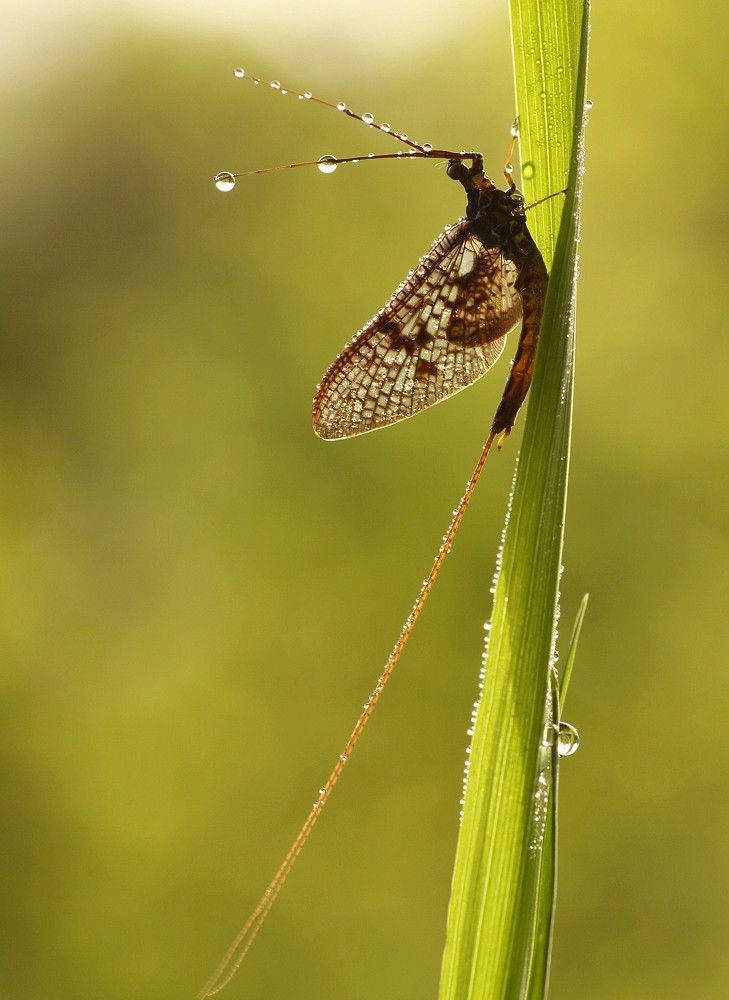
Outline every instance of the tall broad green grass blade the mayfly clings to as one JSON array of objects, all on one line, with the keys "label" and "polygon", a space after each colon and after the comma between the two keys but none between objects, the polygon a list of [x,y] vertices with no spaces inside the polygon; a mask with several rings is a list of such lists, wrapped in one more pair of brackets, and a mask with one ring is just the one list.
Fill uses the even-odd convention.
[{"label": "tall broad green grass blade the mayfly clings to", "polygon": [[512,3],[527,202],[565,187],[567,193],[564,204],[552,198],[529,217],[551,264],[550,286],[500,554],[440,1000],[536,1000],[546,993],[559,711],[552,664],[572,409],[588,14],[581,0]]}]

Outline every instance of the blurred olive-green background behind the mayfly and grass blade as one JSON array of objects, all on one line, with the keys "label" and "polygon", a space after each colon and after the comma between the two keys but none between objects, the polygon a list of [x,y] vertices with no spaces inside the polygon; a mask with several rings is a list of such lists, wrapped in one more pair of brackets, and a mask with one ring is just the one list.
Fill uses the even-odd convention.
[{"label": "blurred olive-green background behind the mayfly and grass blade", "polygon": [[[482,148],[497,175],[505,4],[390,8],[34,8],[5,60],[4,996],[195,994],[349,734],[480,450],[508,357],[386,433],[324,444],[309,423],[326,366],[462,213],[441,171],[212,184],[390,149],[237,65]],[[729,991],[729,14],[711,16],[594,6],[563,650],[591,602],[567,713],[582,746],[562,769],[561,1000]],[[226,995],[435,996],[517,451],[515,434],[490,461]]]}]

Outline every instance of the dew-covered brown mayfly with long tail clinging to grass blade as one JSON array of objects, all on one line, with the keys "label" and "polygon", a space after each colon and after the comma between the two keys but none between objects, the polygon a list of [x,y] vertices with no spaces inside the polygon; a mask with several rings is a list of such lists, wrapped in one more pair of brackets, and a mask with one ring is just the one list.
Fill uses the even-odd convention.
[{"label": "dew-covered brown mayfly with long tail clinging to grass blade", "polygon": [[[343,103],[331,104],[308,91],[286,89],[276,80],[267,83],[259,77],[247,76],[241,69],[235,75],[300,100],[337,109],[408,147],[405,153],[370,154],[368,160],[402,157],[446,160],[448,177],[460,183],[466,192],[465,218],[447,227],[435,240],[322,378],[313,404],[314,430],[321,438],[348,438],[386,427],[452,396],[491,368],[504,348],[507,334],[520,323],[521,332],[506,387],[476,468],[377,684],[281,866],[199,993],[200,998],[223,989],[243,961],[395,668],[451,549],[492,445],[496,441],[500,447],[514,425],[531,382],[548,282],[544,261],[527,228],[524,200],[511,176],[510,160],[518,137],[516,123],[504,168],[506,188],[501,189],[484,173],[480,153],[434,149],[428,143],[417,143],[395,132],[385,122],[377,124],[369,113],[355,113]],[[326,155],[310,163],[291,163],[242,174],[224,172],[217,175],[215,182],[220,190],[230,191],[237,177],[314,164],[324,173],[330,173],[339,164],[360,159],[365,158]]]}]

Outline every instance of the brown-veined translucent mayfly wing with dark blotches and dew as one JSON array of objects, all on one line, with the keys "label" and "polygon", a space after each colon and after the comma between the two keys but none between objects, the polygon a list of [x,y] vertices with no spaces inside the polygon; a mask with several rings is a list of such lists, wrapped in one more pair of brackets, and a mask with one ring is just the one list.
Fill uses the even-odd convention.
[{"label": "brown-veined translucent mayfly wing with dark blotches and dew", "polygon": [[521,320],[516,277],[470,220],[446,230],[324,375],[313,406],[319,437],[386,427],[480,378]]}]

